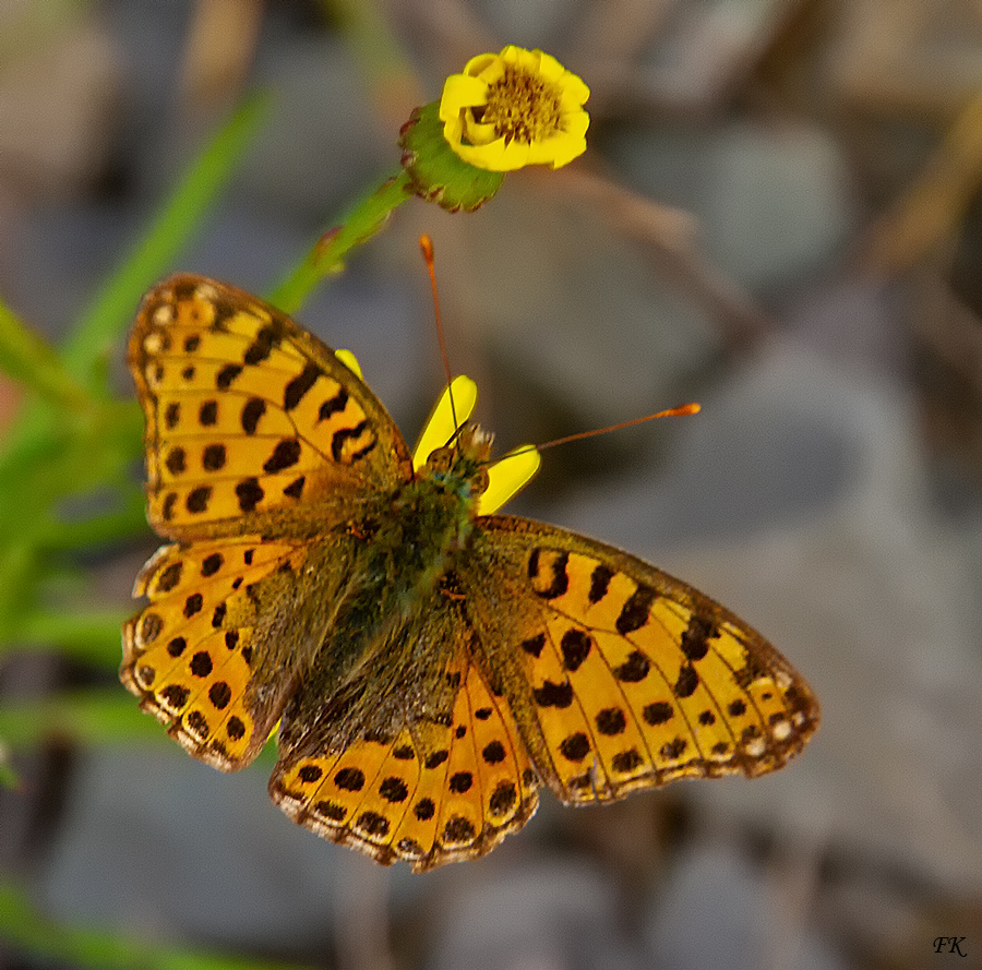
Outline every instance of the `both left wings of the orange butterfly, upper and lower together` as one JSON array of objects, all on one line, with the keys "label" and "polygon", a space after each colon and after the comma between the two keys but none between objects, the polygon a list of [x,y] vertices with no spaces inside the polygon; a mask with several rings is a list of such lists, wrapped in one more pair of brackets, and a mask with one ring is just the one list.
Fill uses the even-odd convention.
[{"label": "both left wings of the orange butterfly, upper and lower together", "polygon": [[[175,276],[144,298],[129,363],[146,416],[146,564],[120,678],[191,754],[249,764],[295,685],[310,542],[412,475],[392,419],[330,347],[242,290]],[[275,537],[275,538],[274,538]],[[322,560],[324,553],[321,553]],[[339,579],[322,583],[330,600]],[[290,627],[294,622],[294,628]]]}]

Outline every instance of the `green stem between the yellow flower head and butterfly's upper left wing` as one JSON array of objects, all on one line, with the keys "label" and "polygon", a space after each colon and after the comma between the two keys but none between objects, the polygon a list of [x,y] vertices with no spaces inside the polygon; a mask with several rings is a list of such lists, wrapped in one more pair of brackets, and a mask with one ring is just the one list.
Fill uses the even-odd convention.
[{"label": "green stem between the yellow flower head and butterfly's upper left wing", "polygon": [[268,295],[270,302],[285,313],[296,313],[318,284],[340,272],[350,249],[382,229],[390,213],[410,197],[409,187],[409,176],[400,169],[362,199],[342,225],[322,236],[300,265]]}]

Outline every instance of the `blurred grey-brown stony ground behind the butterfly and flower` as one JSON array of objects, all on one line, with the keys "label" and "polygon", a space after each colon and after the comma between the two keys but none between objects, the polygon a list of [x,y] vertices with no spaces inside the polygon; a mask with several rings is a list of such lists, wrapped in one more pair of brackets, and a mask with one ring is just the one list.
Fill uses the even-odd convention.
[{"label": "blurred grey-brown stony ground behind the butterfly and flower", "polygon": [[[4,970],[137,966],[117,944],[147,967],[982,967],[979,0],[4,0],[0,294],[61,339],[255,88],[259,135],[170,268],[268,290],[396,169],[410,110],[512,43],[590,86],[587,154],[474,215],[411,200],[298,316],[411,443],[442,381],[427,231],[502,450],[699,400],[548,452],[510,511],[726,603],[822,730],[753,782],[543,793],[491,855],[414,876],[294,826],[272,758],[188,757],[116,681],[118,637],[86,662],[4,644],[0,706],[120,692],[151,728],[2,752]],[[0,434],[21,406],[0,380]],[[125,616],[157,544],[80,553],[89,597]]]}]

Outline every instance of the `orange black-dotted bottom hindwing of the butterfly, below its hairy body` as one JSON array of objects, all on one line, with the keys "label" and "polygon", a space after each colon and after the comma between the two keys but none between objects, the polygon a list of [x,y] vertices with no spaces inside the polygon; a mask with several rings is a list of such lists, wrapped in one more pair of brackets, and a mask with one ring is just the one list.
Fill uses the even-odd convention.
[{"label": "orange black-dotted bottom hindwing of the butterfly, below its hairy body", "polygon": [[338,751],[282,747],[273,800],[324,838],[416,872],[489,852],[536,811],[538,778],[472,658],[458,655],[446,678],[456,690],[446,718]]}]

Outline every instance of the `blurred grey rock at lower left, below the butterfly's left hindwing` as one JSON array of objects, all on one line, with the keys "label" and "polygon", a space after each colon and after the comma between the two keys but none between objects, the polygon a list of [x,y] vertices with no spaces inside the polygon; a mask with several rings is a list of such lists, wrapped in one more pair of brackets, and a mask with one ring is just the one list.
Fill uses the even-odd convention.
[{"label": "blurred grey rock at lower left, below the butterfly's left hindwing", "polygon": [[323,941],[340,891],[338,857],[350,850],[287,819],[266,794],[267,775],[253,766],[223,776],[178,750],[93,753],[38,875],[40,905],[55,919],[146,942],[296,953]]}]

